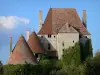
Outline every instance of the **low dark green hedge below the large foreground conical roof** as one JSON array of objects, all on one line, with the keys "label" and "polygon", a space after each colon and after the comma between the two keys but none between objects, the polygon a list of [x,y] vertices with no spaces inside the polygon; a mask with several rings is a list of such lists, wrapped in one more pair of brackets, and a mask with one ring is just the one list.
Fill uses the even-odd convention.
[{"label": "low dark green hedge below the large foreground conical roof", "polygon": [[5,65],[4,75],[40,75],[42,68],[40,65],[31,64],[18,64],[18,65]]}]

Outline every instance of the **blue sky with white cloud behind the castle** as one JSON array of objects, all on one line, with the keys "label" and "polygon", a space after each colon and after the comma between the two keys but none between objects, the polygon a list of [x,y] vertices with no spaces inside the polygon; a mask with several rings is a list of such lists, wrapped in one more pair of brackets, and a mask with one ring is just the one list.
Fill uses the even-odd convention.
[{"label": "blue sky with white cloud behind the castle", "polygon": [[99,0],[0,0],[0,60],[6,64],[10,55],[9,39],[15,46],[26,30],[38,32],[39,11],[43,21],[49,8],[76,8],[80,19],[82,10],[87,13],[87,29],[91,33],[93,53],[100,49],[100,1]]}]

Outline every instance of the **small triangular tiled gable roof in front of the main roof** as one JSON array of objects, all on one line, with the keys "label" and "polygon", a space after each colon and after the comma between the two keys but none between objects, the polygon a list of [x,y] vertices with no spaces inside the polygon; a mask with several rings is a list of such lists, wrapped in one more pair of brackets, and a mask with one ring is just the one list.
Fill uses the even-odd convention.
[{"label": "small triangular tiled gable roof in front of the main roof", "polygon": [[77,33],[77,31],[68,23],[64,24],[58,32],[59,33]]}]

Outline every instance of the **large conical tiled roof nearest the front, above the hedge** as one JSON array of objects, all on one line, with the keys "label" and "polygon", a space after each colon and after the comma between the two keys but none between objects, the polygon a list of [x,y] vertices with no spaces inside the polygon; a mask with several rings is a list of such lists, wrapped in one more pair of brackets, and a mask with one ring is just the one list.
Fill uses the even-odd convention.
[{"label": "large conical tiled roof nearest the front, above the hedge", "polygon": [[35,58],[26,40],[21,35],[9,58],[8,64],[35,64]]}]

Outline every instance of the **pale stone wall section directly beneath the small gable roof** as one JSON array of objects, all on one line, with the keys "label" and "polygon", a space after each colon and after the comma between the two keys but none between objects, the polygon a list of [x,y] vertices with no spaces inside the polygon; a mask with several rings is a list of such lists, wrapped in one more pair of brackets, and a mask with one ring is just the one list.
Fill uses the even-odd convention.
[{"label": "pale stone wall section directly beneath the small gable roof", "polygon": [[[63,55],[63,49],[66,49],[69,46],[74,46],[74,44],[79,41],[79,33],[58,33],[57,40],[58,58],[61,59]],[[63,42],[64,46],[62,45]]]}]

